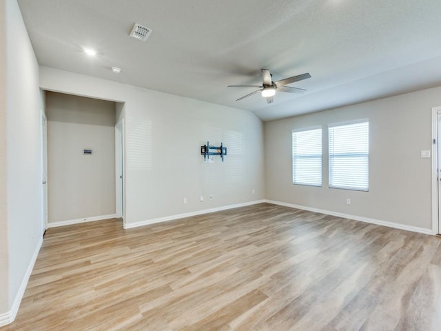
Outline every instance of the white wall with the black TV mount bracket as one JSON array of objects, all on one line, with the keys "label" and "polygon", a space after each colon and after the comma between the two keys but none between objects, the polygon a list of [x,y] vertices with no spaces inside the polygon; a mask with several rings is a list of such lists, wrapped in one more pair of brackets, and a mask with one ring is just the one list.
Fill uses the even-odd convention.
[{"label": "white wall with the black TV mount bracket", "polygon": [[[47,67],[40,86],[125,102],[126,224],[264,198],[263,123],[254,114]],[[206,141],[227,146],[224,163],[203,162]]]}]

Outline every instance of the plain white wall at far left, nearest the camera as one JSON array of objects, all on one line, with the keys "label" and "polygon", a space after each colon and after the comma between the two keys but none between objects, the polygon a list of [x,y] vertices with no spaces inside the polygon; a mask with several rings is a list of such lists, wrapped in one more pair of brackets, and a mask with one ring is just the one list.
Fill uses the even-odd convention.
[{"label": "plain white wall at far left, nearest the camera", "polygon": [[[3,1],[1,1],[3,6]],[[8,261],[7,299],[0,298],[0,315],[8,314],[12,306],[19,303],[28,272],[32,268],[32,258],[38,251],[43,235],[41,217],[41,110],[43,103],[39,90],[39,66],[25,30],[16,0],[6,0],[2,13],[6,22],[6,119],[1,111],[0,121],[6,123],[6,140],[2,133],[2,143],[7,143],[6,160],[2,147],[1,163],[6,161],[6,197],[2,187],[1,215],[4,225],[4,205],[7,201],[7,226],[1,232],[8,233],[8,257],[4,259],[4,244],[0,244],[1,261]],[[1,7],[0,6],[0,7]],[[4,69],[4,62],[1,65]],[[4,81],[2,81],[4,82]],[[5,86],[1,88],[5,90]],[[3,100],[5,100],[3,99]],[[6,122],[5,122],[6,121]],[[3,130],[1,130],[3,132]],[[1,168],[4,183],[4,168]],[[4,199],[3,199],[4,198]],[[1,269],[4,268],[1,262]],[[4,275],[0,271],[2,294]],[[1,279],[3,278],[3,279]],[[6,302],[5,302],[6,301]],[[15,307],[18,308],[18,307]],[[6,311],[5,311],[6,309]],[[0,322],[1,323],[1,322]]]}]

